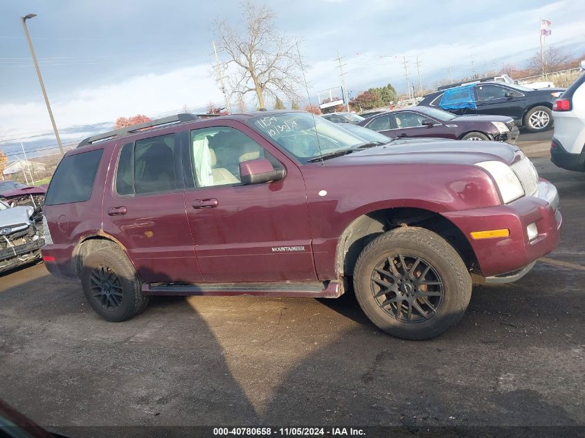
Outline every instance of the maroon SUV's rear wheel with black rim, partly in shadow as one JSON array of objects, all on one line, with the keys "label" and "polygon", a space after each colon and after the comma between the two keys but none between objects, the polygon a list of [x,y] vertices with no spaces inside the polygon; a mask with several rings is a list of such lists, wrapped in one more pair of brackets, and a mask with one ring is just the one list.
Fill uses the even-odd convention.
[{"label": "maroon SUV's rear wheel with black rim, partly in shadow", "polygon": [[127,255],[114,246],[104,246],[84,258],[81,282],[91,308],[111,322],[138,315],[150,298],[143,295],[142,282]]}]

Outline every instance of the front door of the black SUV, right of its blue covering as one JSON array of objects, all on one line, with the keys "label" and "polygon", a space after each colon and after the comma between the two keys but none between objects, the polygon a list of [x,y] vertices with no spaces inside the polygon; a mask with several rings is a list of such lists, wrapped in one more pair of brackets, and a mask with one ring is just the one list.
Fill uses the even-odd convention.
[{"label": "front door of the black SUV, right of its blue covering", "polygon": [[474,92],[478,114],[522,118],[526,98],[520,91],[499,84],[477,84]]}]

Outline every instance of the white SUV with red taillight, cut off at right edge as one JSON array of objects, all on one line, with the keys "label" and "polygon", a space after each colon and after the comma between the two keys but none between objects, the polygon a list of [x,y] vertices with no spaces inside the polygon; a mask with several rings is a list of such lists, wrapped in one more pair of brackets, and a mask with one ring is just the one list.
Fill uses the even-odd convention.
[{"label": "white SUV with red taillight, cut off at right edge", "polygon": [[564,169],[585,172],[585,74],[555,101],[552,118],[555,133],[550,161]]}]

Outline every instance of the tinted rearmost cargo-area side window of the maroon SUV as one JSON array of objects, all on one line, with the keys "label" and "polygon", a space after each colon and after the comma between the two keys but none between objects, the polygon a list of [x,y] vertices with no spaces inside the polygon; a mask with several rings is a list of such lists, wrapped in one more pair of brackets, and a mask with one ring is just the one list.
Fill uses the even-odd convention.
[{"label": "tinted rearmost cargo-area side window of the maroon SUV", "polygon": [[46,205],[87,201],[91,197],[103,152],[104,149],[96,149],[64,157],[51,179]]}]

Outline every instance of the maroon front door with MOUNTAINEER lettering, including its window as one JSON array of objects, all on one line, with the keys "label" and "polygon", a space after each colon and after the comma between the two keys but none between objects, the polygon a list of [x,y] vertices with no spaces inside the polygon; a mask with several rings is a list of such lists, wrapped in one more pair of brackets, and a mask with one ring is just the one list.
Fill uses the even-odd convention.
[{"label": "maroon front door with MOUNTAINEER lettering, including its window", "polygon": [[[204,280],[316,280],[300,170],[249,127],[224,124],[190,131],[183,156],[185,208]],[[242,185],[240,163],[259,158],[285,167],[285,178]]]}]

